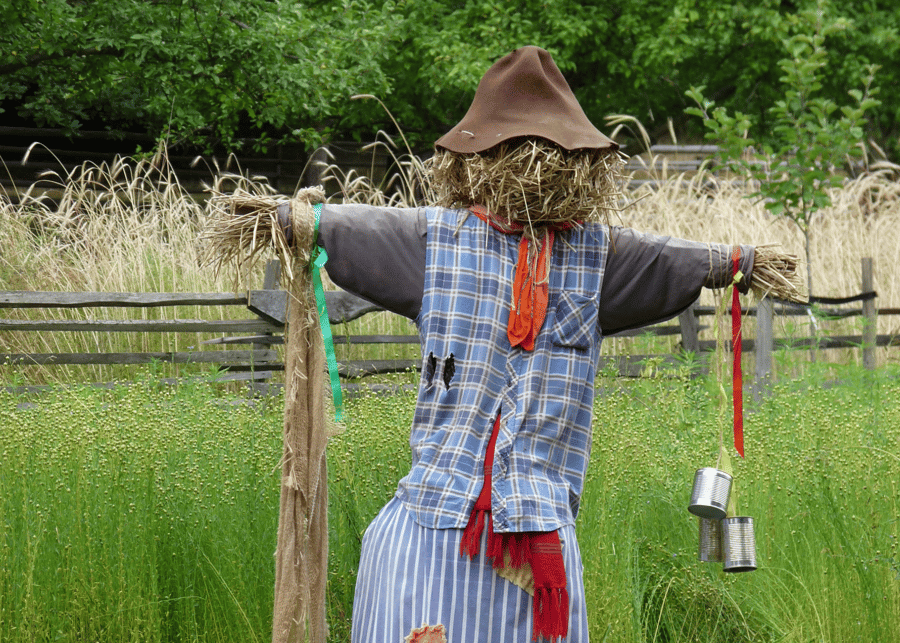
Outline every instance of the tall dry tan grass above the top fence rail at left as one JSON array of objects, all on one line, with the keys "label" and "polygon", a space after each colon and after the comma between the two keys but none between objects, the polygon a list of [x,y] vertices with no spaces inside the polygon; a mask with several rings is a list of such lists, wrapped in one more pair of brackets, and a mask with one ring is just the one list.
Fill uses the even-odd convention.
[{"label": "tall dry tan grass above the top fence rail at left", "polygon": [[13,201],[0,194],[5,289],[196,292],[215,283],[199,269],[203,206],[165,150],[45,172]]}]

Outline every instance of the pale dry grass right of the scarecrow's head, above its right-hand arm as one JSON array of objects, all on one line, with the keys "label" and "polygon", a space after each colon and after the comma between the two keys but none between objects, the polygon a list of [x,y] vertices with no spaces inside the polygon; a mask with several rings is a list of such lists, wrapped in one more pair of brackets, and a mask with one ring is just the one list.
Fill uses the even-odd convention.
[{"label": "pale dry grass right of the scarecrow's head, above its right-hand arm", "polygon": [[[717,243],[778,244],[805,256],[803,233],[789,219],[769,213],[748,198],[738,183],[707,173],[665,177],[658,188],[631,192],[632,204],[622,213],[625,225],[639,230]],[[860,292],[863,257],[875,263],[878,306],[900,307],[900,183],[890,171],[848,180],[831,191],[832,205],[810,225],[812,294],[846,297]],[[804,266],[805,269],[805,266]],[[714,303],[705,294],[703,303]]]}]

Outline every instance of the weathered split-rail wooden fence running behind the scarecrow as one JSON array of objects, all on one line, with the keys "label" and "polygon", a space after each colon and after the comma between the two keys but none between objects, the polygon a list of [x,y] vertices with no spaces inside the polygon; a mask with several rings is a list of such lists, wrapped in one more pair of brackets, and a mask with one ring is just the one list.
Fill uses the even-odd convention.
[{"label": "weathered split-rail wooden fence running behind the scarecrow", "polygon": [[[74,293],[74,292],[0,292],[0,308],[14,310],[25,308],[116,308],[141,307],[158,308],[171,306],[201,307],[241,307],[252,315],[247,319],[162,319],[162,320],[17,320],[0,319],[0,331],[11,332],[59,332],[75,331],[85,333],[134,332],[134,333],[209,333],[220,337],[202,342],[193,350],[179,352],[86,352],[86,353],[6,353],[0,354],[0,365],[139,365],[153,361],[175,364],[210,364],[222,369],[223,381],[247,380],[251,383],[272,379],[276,371],[284,365],[275,347],[284,342],[283,330],[287,317],[287,293],[277,289],[278,266],[273,262],[267,267],[263,290],[250,291],[246,295],[222,293]],[[839,319],[861,316],[864,319],[861,335],[840,335],[820,337],[781,337],[773,333],[774,319],[781,316],[808,317],[810,311],[805,306],[779,304],[763,300],[758,307],[746,308],[745,316],[755,316],[756,337],[743,339],[743,349],[756,353],[755,375],[757,382],[765,382],[772,372],[772,355],[776,348],[828,350],[837,348],[862,349],[863,363],[868,368],[875,367],[875,348],[898,346],[900,340],[891,335],[876,335],[878,315],[898,315],[900,309],[876,309],[876,293],[872,291],[872,262],[862,262],[863,293],[845,299],[814,298],[819,306],[819,318]],[[380,310],[377,306],[354,297],[349,293],[335,291],[326,293],[329,319],[340,324]],[[860,308],[843,308],[847,304],[861,304]],[[713,340],[701,340],[700,331],[704,318],[715,315],[709,306],[693,306],[678,319],[678,325],[659,325],[619,333],[613,337],[636,337],[642,335],[680,335],[680,350],[700,357],[708,355],[715,348]],[[2,337],[2,335],[0,335]],[[340,335],[336,344],[417,344],[416,335]],[[3,342],[5,343],[5,342]],[[3,343],[0,343],[2,345]],[[730,342],[728,342],[730,344]],[[600,368],[616,368],[620,375],[636,376],[645,368],[648,359],[653,359],[660,367],[683,364],[681,356],[628,355],[605,356]],[[419,367],[417,359],[358,359],[339,364],[344,378],[358,378],[373,374],[401,372]]]}]

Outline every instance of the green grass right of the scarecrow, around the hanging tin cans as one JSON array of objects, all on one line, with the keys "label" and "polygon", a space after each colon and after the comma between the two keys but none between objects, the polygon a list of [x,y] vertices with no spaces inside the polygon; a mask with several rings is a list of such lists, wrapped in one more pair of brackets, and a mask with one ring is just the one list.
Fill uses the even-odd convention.
[{"label": "green grass right of the scarecrow, around the hanging tin cans", "polygon": [[[843,383],[826,385],[835,376]],[[697,524],[685,518],[693,470],[715,462],[713,385],[663,384],[657,404],[659,383],[613,384],[598,401],[579,525],[596,557],[586,578],[603,597],[593,634],[612,624],[609,640],[892,638],[896,382],[819,365],[754,409],[735,485],[739,513],[755,519],[759,570],[734,576],[697,561]]]}]

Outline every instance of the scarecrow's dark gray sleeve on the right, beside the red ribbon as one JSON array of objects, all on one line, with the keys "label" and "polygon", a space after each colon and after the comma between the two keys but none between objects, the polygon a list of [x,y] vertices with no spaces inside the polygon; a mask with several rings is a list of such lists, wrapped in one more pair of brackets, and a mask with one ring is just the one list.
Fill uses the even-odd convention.
[{"label": "scarecrow's dark gray sleeve on the right, beside the red ribbon", "polygon": [[[611,245],[600,290],[600,328],[611,335],[657,324],[684,312],[705,288],[724,288],[732,280],[733,246],[610,229]],[[753,247],[741,250],[738,284],[747,292]]]}]

